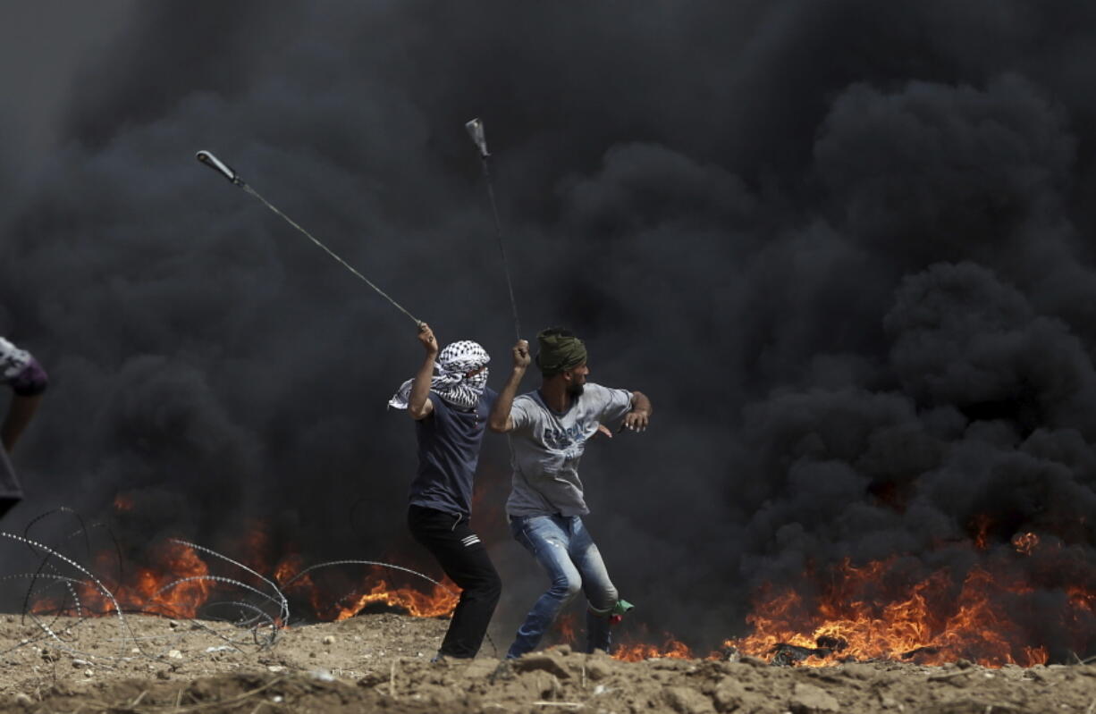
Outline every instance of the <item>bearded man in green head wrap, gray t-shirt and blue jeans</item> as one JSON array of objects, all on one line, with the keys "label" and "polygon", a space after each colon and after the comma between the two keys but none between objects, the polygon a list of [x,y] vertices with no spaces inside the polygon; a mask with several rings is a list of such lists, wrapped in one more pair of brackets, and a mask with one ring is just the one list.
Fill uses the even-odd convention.
[{"label": "bearded man in green head wrap, gray t-shirt and blue jeans", "polygon": [[559,327],[537,335],[540,389],[520,396],[529,362],[524,339],[514,345],[514,369],[491,410],[490,426],[510,434],[513,487],[506,500],[510,530],[541,567],[551,586],[517,630],[507,658],[536,649],[560,610],[581,589],[586,596],[586,652],[612,645],[613,615],[626,609],[609,580],[597,545],[582,523],[590,513],[579,480],[586,440],[604,425],[643,431],[651,401],[640,392],[586,381],[586,347]]}]

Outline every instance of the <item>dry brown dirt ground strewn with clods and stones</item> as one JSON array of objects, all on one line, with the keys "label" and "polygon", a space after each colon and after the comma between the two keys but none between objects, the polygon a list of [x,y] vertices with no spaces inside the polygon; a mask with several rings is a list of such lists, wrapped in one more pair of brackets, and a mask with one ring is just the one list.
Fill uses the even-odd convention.
[{"label": "dry brown dirt ground strewn with clods and stones", "polygon": [[567,645],[431,664],[446,626],[368,614],[271,642],[269,629],[207,621],[3,615],[0,712],[1096,712],[1094,665],[624,663]]}]

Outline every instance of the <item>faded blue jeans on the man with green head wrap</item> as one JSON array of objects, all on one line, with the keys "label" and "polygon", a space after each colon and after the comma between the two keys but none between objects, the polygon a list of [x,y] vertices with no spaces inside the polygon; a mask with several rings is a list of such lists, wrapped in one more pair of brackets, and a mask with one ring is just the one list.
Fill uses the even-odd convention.
[{"label": "faded blue jeans on the man with green head wrap", "polygon": [[605,571],[602,554],[578,516],[515,516],[510,521],[514,539],[533,553],[551,580],[551,587],[534,603],[517,629],[506,657],[521,657],[540,644],[559,611],[581,589],[586,596],[586,652],[612,644],[609,611],[617,590]]}]

